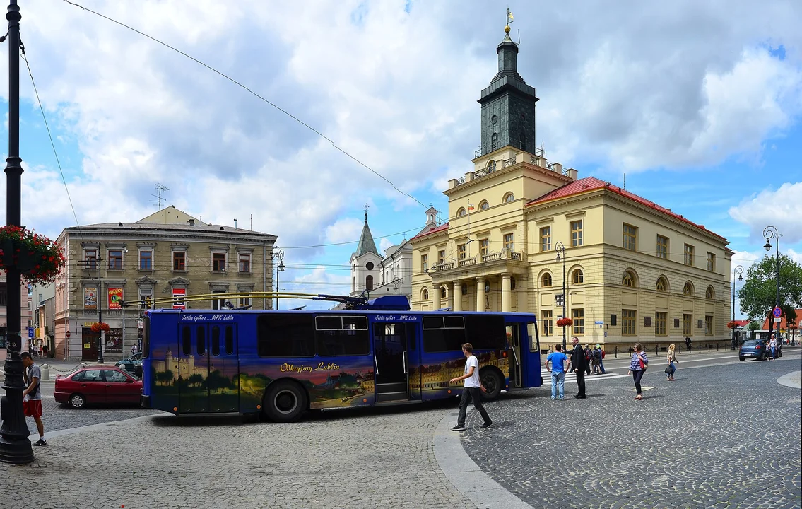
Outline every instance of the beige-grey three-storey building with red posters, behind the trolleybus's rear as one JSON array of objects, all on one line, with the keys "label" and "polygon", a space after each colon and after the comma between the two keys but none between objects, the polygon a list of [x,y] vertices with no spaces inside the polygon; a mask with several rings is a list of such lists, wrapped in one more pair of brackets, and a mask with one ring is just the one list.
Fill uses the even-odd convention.
[{"label": "beige-grey three-storey building with red posters, behind the trolleybus's rear", "polygon": [[[56,241],[67,265],[55,283],[55,356],[96,360],[102,314],[103,357],[116,361],[141,348],[144,311],[155,307],[269,309],[270,299],[188,299],[192,295],[270,291],[276,236],[212,225],[168,206],[135,223],[75,226]],[[122,307],[121,301],[140,301]]]}]

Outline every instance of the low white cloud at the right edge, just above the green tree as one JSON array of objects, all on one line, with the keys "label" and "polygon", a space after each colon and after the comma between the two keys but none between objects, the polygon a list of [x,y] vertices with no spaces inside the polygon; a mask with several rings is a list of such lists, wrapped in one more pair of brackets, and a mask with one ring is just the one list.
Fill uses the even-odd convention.
[{"label": "low white cloud at the right edge, just above the green tree", "polygon": [[772,225],[783,236],[783,243],[802,240],[802,182],[786,182],[779,189],[764,189],[731,207],[730,217],[749,226],[752,238],[761,238],[764,228]]}]

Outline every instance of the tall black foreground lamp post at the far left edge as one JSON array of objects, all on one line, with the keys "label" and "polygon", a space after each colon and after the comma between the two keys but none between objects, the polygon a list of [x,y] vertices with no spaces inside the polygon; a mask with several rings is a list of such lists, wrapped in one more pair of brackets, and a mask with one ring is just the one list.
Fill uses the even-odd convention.
[{"label": "tall black foreground lamp post at the far left edge", "polygon": [[[19,157],[19,14],[17,0],[10,0],[8,20],[8,158],[6,159],[6,224],[22,226],[22,159]],[[11,264],[6,268],[6,380],[2,385],[6,395],[0,400],[0,461],[30,463],[34,451],[30,446],[30,431],[22,414],[22,336],[19,334],[22,316],[20,294],[22,274]]]}]

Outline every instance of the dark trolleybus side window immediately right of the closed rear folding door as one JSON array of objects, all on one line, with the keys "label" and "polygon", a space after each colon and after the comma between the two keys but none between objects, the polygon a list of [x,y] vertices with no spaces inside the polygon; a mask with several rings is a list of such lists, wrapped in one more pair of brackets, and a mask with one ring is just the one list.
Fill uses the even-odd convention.
[{"label": "dark trolleybus side window immediately right of the closed rear folding door", "polygon": [[[233,331],[231,348],[233,350]],[[260,357],[314,356],[314,316],[297,313],[260,315],[257,319],[257,348]]]}]

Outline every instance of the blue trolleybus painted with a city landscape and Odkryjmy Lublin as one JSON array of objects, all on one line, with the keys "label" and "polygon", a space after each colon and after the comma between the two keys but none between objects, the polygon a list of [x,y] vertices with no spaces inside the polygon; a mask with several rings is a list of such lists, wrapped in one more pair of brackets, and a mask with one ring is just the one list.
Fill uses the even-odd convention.
[{"label": "blue trolleybus painted with a city landscape and Odkryjmy Lublin", "polygon": [[487,399],[542,385],[528,313],[411,312],[384,296],[345,311],[156,309],[144,319],[142,405],[176,415],[419,403],[460,394],[473,344]]}]

